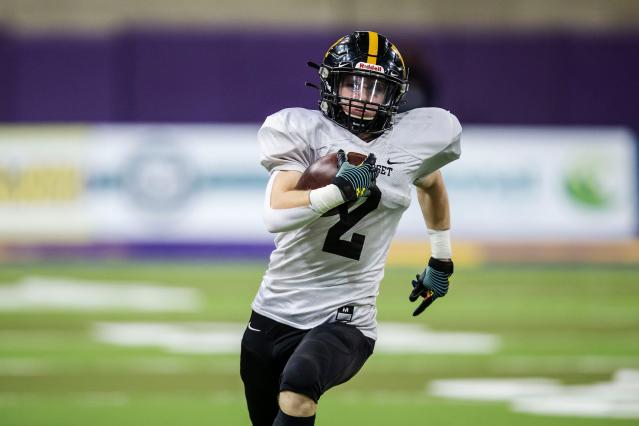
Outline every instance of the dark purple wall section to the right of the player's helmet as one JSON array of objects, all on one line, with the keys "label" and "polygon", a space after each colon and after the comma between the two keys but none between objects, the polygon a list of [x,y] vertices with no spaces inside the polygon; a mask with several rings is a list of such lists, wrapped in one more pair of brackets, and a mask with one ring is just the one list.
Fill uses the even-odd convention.
[{"label": "dark purple wall section to the right of the player's helmet", "polygon": [[432,34],[419,40],[441,88],[439,104],[466,123],[639,130],[639,33]]}]

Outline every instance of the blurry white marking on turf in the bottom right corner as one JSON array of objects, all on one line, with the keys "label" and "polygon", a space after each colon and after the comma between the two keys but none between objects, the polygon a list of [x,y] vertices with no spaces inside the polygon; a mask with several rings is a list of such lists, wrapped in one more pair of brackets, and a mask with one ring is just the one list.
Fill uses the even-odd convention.
[{"label": "blurry white marking on turf in the bottom right corner", "polygon": [[639,370],[621,369],[610,382],[562,385],[547,378],[435,380],[429,392],[444,398],[510,402],[514,411],[540,415],[639,419]]}]

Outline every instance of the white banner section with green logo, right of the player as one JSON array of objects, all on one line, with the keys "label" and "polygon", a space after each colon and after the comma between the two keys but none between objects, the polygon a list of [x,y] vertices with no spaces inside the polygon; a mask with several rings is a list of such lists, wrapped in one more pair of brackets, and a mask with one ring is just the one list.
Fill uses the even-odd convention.
[{"label": "white banner section with green logo, right of the player", "polygon": [[[637,165],[619,129],[469,127],[442,169],[454,236],[466,240],[616,240],[637,230]],[[399,234],[423,223],[417,203]]]}]

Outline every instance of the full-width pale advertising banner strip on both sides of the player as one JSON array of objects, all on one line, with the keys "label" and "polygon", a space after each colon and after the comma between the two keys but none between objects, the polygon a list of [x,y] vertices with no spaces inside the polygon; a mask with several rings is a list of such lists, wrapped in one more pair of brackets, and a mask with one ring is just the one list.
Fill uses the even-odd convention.
[{"label": "full-width pale advertising banner strip on both sides of the player", "polygon": [[[0,242],[268,242],[257,125],[0,127]],[[467,127],[443,169],[454,237],[617,240],[637,229],[633,135]],[[416,201],[398,230],[426,235]]]}]

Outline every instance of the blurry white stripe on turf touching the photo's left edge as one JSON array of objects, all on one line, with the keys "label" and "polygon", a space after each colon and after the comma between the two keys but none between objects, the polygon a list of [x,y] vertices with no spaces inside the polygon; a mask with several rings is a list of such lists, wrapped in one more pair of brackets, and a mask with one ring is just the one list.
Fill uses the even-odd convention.
[{"label": "blurry white stripe on turf touching the photo's left edge", "polygon": [[26,277],[15,284],[0,286],[0,311],[191,312],[199,307],[195,289],[141,282]]}]

